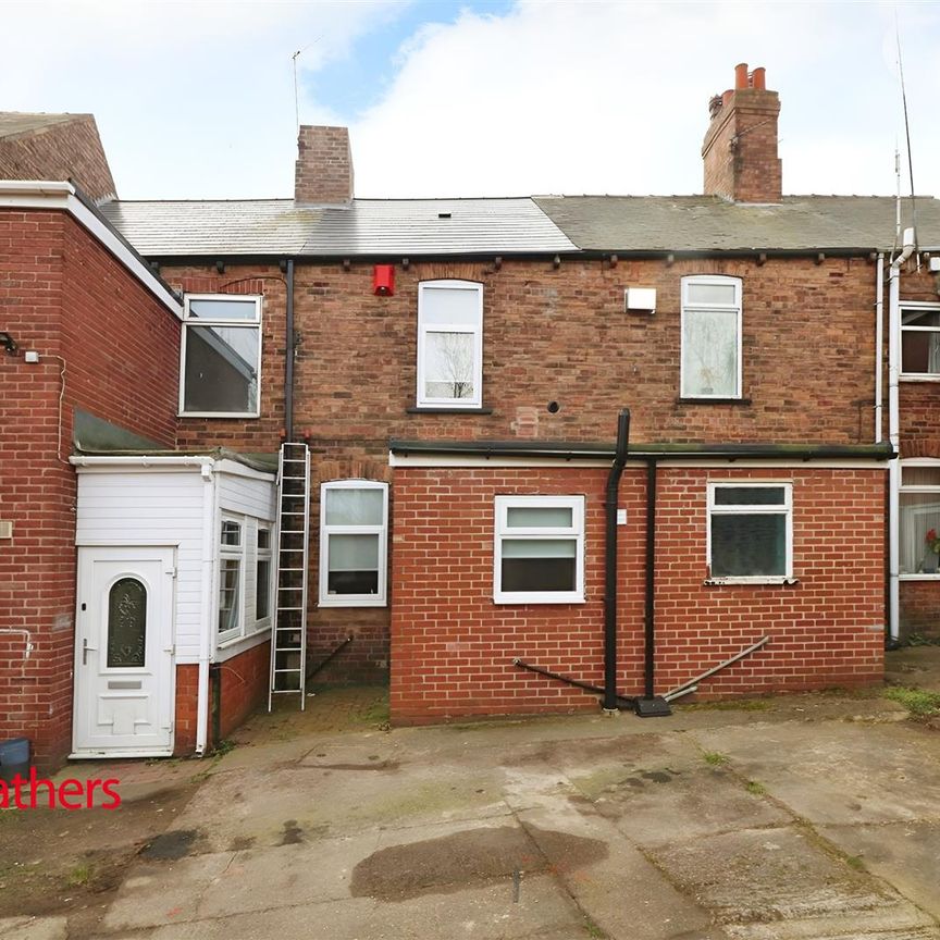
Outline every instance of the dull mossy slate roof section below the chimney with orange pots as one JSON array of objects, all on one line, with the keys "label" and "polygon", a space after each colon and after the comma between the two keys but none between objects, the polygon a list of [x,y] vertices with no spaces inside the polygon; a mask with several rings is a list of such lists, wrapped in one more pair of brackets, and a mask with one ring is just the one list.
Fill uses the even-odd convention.
[{"label": "dull mossy slate roof section below the chimney with orange pots", "polygon": [[[580,248],[599,251],[890,249],[890,196],[784,196],[774,205],[717,196],[560,196],[535,202]],[[916,200],[922,246],[940,246],[940,200]],[[902,227],[911,224],[902,200]]]}]

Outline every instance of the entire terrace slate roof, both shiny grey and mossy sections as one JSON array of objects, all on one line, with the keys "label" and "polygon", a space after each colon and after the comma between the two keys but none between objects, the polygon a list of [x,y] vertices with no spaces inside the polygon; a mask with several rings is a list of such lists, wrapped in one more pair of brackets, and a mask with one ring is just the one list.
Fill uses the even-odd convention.
[{"label": "entire terrace slate roof, both shiny grey and mossy sections", "polygon": [[[631,251],[844,251],[894,247],[887,196],[122,201],[103,215],[144,256],[356,257]],[[916,200],[920,247],[940,247],[940,200]],[[911,224],[902,200],[902,226]]]}]

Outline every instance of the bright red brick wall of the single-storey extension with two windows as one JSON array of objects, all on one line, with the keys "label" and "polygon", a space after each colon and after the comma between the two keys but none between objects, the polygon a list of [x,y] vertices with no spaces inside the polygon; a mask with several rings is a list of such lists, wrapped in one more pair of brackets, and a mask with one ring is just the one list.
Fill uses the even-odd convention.
[{"label": "bright red brick wall of the single-storey extension with two windows", "polygon": [[[603,683],[603,469],[396,471],[392,714],[447,716],[593,709],[596,701],[522,672],[515,657]],[[800,584],[705,586],[706,481],[793,481]],[[643,685],[645,470],[628,467],[619,530],[619,685]],[[855,685],[881,678],[883,473],[873,470],[660,469],[657,691],[771,634],[762,652],[702,683],[700,695]],[[494,496],[586,495],[586,603],[493,603]]]}]

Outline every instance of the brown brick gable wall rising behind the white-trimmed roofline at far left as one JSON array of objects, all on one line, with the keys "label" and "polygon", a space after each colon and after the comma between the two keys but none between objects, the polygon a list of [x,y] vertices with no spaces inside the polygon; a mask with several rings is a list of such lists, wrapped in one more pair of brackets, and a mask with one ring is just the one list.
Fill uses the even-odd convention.
[{"label": "brown brick gable wall rising behind the white-trimmed roofline at far left", "polygon": [[0,180],[74,180],[92,199],[114,196],[114,181],[91,114],[0,139]]}]

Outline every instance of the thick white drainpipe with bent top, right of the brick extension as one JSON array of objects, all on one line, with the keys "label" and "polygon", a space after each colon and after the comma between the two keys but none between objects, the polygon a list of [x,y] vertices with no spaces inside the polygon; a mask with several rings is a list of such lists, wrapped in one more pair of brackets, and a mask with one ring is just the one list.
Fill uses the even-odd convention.
[{"label": "thick white drainpipe with bent top, right of the brick extension", "polygon": [[[888,282],[888,440],[895,454],[901,450],[901,268],[914,253],[914,230],[904,230],[904,250],[891,262]],[[901,460],[888,465],[888,578],[890,636],[901,635]]]}]

